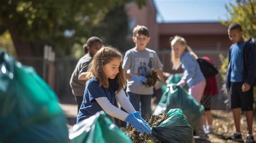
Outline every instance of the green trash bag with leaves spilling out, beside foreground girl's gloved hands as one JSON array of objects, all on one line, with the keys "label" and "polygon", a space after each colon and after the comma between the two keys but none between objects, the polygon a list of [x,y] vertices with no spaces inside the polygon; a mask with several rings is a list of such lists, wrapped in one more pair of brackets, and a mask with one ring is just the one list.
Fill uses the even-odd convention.
[{"label": "green trash bag with leaves spilling out, beside foreground girl's gloved hands", "polygon": [[162,142],[194,142],[193,128],[180,108],[171,109],[168,114],[166,120],[152,128],[152,135]]}]

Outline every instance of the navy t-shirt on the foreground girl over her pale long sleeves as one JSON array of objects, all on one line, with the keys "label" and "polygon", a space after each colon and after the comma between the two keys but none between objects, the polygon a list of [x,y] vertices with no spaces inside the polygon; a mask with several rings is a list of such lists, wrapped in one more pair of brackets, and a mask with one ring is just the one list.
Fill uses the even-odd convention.
[{"label": "navy t-shirt on the foreground girl over her pale long sleeves", "polygon": [[111,104],[114,104],[115,92],[117,90],[118,84],[115,79],[109,79],[109,88],[104,88],[103,86],[99,86],[99,80],[97,78],[91,78],[85,87],[83,103],[79,109],[77,122],[87,119],[103,110],[95,100],[96,98],[106,97]]}]

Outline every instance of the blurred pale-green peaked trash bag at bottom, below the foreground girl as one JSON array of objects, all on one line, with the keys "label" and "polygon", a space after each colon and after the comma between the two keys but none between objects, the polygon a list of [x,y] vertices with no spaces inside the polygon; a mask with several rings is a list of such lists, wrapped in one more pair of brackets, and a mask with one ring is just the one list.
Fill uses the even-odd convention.
[{"label": "blurred pale-green peaked trash bag at bottom, below the foreground girl", "polygon": [[72,143],[132,142],[125,133],[101,111],[88,119],[78,122],[69,130]]}]

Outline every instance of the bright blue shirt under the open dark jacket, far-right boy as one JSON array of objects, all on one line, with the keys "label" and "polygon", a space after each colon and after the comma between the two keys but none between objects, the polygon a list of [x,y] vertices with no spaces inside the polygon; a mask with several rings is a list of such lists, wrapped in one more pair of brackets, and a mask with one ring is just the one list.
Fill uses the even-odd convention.
[{"label": "bright blue shirt under the open dark jacket, far-right boy", "polygon": [[231,50],[231,82],[242,81],[242,54],[244,51],[244,42],[235,43]]}]

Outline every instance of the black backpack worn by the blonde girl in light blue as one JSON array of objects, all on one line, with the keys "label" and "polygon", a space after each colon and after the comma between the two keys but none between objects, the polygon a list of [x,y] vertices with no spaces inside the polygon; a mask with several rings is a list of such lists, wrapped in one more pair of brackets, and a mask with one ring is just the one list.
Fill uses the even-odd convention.
[{"label": "black backpack worn by the blonde girl in light blue", "polygon": [[205,79],[215,76],[219,73],[217,68],[212,63],[203,58],[198,58],[197,62],[200,66],[201,72],[204,74]]}]

